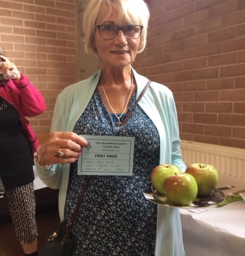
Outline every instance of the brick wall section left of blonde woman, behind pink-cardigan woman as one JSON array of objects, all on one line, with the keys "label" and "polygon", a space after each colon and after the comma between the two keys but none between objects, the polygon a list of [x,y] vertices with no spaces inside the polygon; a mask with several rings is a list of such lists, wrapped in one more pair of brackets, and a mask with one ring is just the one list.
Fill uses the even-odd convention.
[{"label": "brick wall section left of blonde woman, behind pink-cardigan woman", "polygon": [[78,80],[74,0],[0,1],[0,43],[45,97],[45,113],[30,118],[47,133],[58,93]]}]

